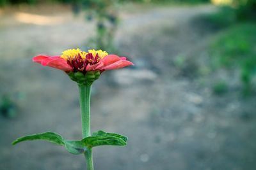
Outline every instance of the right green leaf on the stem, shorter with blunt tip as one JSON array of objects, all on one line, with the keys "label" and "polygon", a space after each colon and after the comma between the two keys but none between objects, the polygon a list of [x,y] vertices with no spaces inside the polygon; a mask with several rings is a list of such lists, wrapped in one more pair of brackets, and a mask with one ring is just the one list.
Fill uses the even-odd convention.
[{"label": "right green leaf on the stem, shorter with blunt tip", "polygon": [[127,144],[127,138],[120,134],[98,131],[94,132],[92,136],[84,138],[82,142],[88,148],[101,145],[125,146]]}]

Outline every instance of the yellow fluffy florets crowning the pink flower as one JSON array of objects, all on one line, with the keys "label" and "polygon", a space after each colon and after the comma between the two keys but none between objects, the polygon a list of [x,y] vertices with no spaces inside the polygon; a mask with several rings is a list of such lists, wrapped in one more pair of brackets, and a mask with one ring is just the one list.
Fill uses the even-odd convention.
[{"label": "yellow fluffy florets crowning the pink flower", "polygon": [[[96,55],[98,53],[100,59],[103,59],[104,57],[106,57],[106,55],[108,55],[108,53],[106,51],[94,50],[94,49],[88,50],[88,53],[92,53],[93,58],[96,57]],[[86,55],[88,53],[83,52],[79,48],[77,48],[77,49],[73,48],[73,49],[65,50],[64,52],[62,52],[62,55],[60,57],[65,60],[72,60],[72,59],[76,59],[76,57],[78,57],[80,55],[82,57],[82,59],[86,59]]]}]

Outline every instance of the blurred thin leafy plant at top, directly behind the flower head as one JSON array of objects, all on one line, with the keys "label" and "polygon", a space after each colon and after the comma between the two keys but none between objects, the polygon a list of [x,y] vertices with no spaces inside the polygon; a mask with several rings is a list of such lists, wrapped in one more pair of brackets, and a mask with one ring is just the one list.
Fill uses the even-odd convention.
[{"label": "blurred thin leafy plant at top, directly behind the flower head", "polygon": [[72,2],[74,13],[85,10],[86,19],[96,22],[96,35],[88,41],[92,48],[106,49],[111,53],[116,52],[113,40],[118,26],[116,10],[118,3],[118,0],[76,0]]}]

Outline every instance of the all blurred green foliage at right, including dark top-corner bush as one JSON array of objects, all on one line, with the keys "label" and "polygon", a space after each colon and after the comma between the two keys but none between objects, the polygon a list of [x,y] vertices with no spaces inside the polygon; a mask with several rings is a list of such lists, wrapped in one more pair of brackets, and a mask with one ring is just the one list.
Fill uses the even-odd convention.
[{"label": "all blurred green foliage at right, including dark top-corner bush", "polygon": [[[244,94],[252,92],[256,69],[256,0],[232,0],[219,6],[216,13],[202,17],[213,28],[222,30],[211,45],[213,66],[238,67]],[[221,85],[213,90],[218,94]]]}]

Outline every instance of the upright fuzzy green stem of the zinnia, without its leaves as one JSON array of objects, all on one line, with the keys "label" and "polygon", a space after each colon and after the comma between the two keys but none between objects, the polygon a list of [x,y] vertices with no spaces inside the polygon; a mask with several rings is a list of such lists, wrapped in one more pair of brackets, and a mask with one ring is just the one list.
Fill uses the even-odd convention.
[{"label": "upright fuzzy green stem of the zinnia, without its leaves", "polygon": [[[79,85],[79,98],[82,118],[83,139],[91,135],[90,130],[90,96],[92,85]],[[87,170],[93,170],[92,148],[84,153]]]}]

